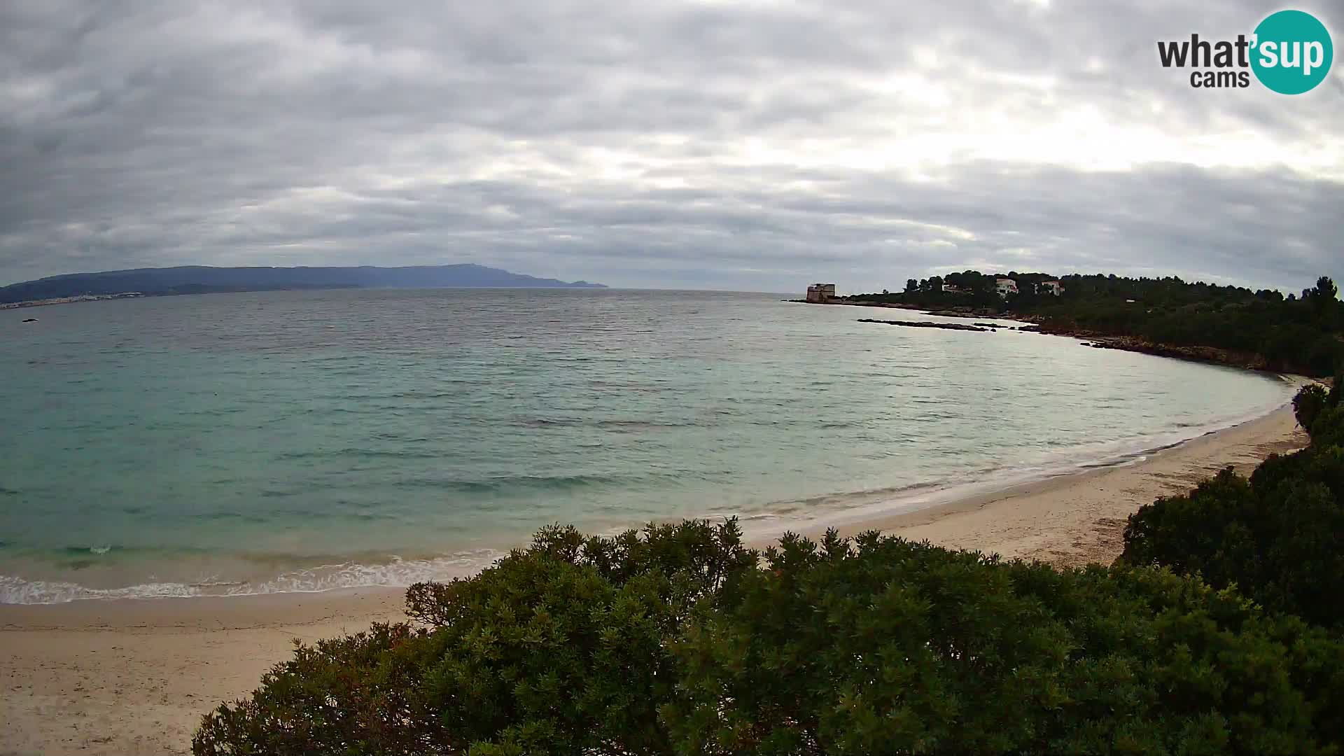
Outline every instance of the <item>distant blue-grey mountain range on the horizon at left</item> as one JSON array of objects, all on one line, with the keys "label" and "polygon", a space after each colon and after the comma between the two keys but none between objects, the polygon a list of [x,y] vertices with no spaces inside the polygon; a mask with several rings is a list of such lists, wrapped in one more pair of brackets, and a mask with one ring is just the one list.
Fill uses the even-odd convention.
[{"label": "distant blue-grey mountain range on the horizon at left", "polygon": [[262,292],[274,289],[359,288],[567,288],[605,289],[587,281],[558,281],[509,273],[484,265],[417,265],[410,268],[137,268],[102,273],[69,273],[0,288],[0,303],[118,295],[196,295],[210,292]]}]

